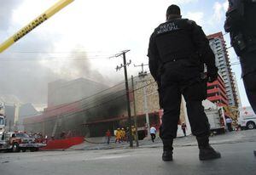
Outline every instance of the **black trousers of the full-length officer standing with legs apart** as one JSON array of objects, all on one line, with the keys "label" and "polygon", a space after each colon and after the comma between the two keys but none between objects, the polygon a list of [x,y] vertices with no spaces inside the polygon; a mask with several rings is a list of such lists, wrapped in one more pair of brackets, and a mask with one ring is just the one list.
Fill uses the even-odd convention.
[{"label": "black trousers of the full-length officer standing with legs apart", "polygon": [[207,97],[206,82],[201,82],[200,71],[193,63],[180,60],[167,64],[161,76],[161,99],[164,115],[160,137],[177,137],[177,123],[180,116],[182,94],[186,101],[191,131],[195,136],[209,135],[209,122],[201,102]]}]

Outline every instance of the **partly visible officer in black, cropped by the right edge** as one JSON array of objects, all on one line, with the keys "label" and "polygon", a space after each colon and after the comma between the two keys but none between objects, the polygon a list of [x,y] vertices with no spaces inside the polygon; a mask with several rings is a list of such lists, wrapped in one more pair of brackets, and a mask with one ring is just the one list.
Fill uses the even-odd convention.
[{"label": "partly visible officer in black, cropped by the right edge", "polygon": [[256,0],[229,0],[224,29],[240,56],[247,98],[256,113]]}]

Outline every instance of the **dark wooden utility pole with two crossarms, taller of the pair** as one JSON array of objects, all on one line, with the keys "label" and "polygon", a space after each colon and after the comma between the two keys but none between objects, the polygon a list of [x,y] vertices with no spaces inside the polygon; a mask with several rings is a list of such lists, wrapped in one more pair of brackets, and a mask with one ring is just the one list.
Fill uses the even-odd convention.
[{"label": "dark wooden utility pole with two crossarms, taller of the pair", "polygon": [[133,147],[133,141],[132,141],[132,133],[131,133],[131,105],[130,105],[130,98],[129,98],[129,86],[128,86],[128,78],[127,78],[127,65],[131,65],[131,60],[129,63],[126,63],[125,54],[129,52],[130,50],[124,50],[121,54],[116,54],[115,57],[123,56],[124,65],[120,65],[116,67],[116,71],[120,70],[122,67],[124,67],[125,72],[125,91],[126,91],[126,101],[127,101],[127,111],[128,111],[128,126],[129,126],[129,134],[130,134],[130,147]]}]

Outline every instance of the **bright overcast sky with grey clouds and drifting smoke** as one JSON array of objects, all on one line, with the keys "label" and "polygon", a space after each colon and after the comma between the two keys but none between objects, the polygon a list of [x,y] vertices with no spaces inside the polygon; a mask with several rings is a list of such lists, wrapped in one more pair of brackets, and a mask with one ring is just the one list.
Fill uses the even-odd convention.
[{"label": "bright overcast sky with grey clouds and drifting smoke", "polygon": [[[0,42],[56,2],[1,0]],[[0,94],[12,94],[23,103],[40,105],[47,101],[47,83],[59,78],[83,76],[111,86],[123,80],[123,71],[114,69],[122,59],[107,58],[125,49],[131,49],[127,54],[132,61],[130,76],[137,75],[140,68],[133,64],[148,63],[148,38],[165,21],[166,8],[172,3],[180,5],[183,17],[195,20],[207,35],[224,32],[226,0],[75,0],[0,54],[1,59],[26,59],[0,61]],[[229,46],[229,36],[225,39]],[[237,62],[234,51],[229,51],[231,62]],[[70,60],[74,57],[87,59]],[[242,105],[249,105],[240,65],[232,66],[232,70],[236,73]]]}]

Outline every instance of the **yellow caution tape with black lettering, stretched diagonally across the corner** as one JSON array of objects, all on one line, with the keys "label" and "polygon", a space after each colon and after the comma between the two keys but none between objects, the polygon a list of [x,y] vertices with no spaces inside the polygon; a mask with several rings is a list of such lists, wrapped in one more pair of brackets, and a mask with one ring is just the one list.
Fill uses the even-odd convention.
[{"label": "yellow caution tape with black lettering, stretched diagonally across the corner", "polygon": [[2,53],[6,48],[9,48],[13,43],[17,42],[21,37],[26,36],[27,33],[32,31],[38,25],[41,25],[45,20],[48,20],[52,15],[56,14],[62,8],[65,8],[69,3],[74,0],[60,0],[55,3],[51,8],[46,10],[44,14],[39,15],[35,20],[32,20],[28,25],[23,27],[20,31],[16,32],[14,36],[9,37],[8,40],[0,45],[0,53]]}]

